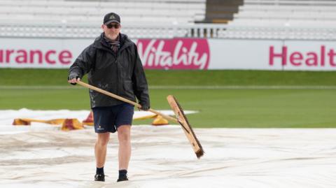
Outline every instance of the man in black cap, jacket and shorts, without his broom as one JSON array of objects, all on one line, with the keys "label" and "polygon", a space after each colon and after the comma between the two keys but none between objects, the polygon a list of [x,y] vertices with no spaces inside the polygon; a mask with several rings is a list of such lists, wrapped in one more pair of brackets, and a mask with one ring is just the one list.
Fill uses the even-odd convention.
[{"label": "man in black cap, jacket and shorts, without his broom", "polygon": [[[137,46],[125,34],[120,34],[120,17],[105,15],[103,33],[77,57],[69,69],[68,82],[75,85],[86,73],[90,85],[118,94],[131,101],[139,100],[141,110],[150,108],[148,85]],[[94,116],[94,145],[97,171],[95,181],[105,181],[104,164],[110,133],[118,131],[119,178],[128,180],[127,168],[131,157],[131,124],[134,106],[90,89]]]}]

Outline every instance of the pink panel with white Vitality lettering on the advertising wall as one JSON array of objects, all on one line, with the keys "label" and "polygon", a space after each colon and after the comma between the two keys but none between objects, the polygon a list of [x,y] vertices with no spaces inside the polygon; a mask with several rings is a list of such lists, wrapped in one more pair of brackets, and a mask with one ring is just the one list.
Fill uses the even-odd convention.
[{"label": "pink panel with white Vitality lettering on the advertising wall", "polygon": [[139,39],[140,59],[148,69],[207,69],[210,50],[207,39]]}]

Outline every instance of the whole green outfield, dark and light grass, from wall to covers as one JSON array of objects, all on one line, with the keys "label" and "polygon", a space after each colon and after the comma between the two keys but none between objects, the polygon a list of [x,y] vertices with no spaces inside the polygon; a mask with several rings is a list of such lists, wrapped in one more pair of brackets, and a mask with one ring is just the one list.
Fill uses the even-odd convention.
[{"label": "whole green outfield, dark and light grass, from wall to covers", "polygon": [[[89,109],[66,69],[0,69],[0,109]],[[300,71],[146,71],[151,106],[173,94],[195,127],[336,127],[336,75]],[[136,121],[146,124],[150,121]]]}]

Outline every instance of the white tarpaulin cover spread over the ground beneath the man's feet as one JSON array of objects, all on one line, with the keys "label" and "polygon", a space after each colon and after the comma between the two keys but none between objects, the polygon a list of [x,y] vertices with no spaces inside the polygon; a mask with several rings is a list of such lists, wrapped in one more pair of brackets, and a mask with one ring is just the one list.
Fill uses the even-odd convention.
[{"label": "white tarpaulin cover spread over the ground beneath the man's feet", "polygon": [[[13,117],[4,111],[1,188],[336,187],[336,129],[194,129],[205,152],[197,159],[180,126],[133,126],[130,181],[116,182],[118,138],[113,134],[104,167],[109,176],[94,182],[92,127],[59,131],[32,124],[35,128],[27,129],[6,123]],[[73,117],[83,120],[87,112]]]}]

